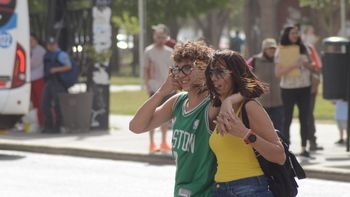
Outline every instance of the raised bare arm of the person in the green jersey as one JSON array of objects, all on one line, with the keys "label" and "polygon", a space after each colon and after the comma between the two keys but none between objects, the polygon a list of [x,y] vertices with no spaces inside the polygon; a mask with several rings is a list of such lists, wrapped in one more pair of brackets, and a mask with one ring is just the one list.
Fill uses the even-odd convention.
[{"label": "raised bare arm of the person in the green jersey", "polygon": [[164,96],[170,94],[178,87],[177,82],[169,75],[167,81],[151,96],[136,112],[129,123],[130,131],[143,133],[154,129],[172,117],[172,107],[179,95],[168,99],[163,105],[157,107]]}]

